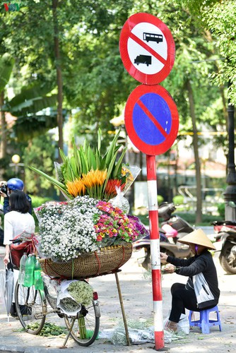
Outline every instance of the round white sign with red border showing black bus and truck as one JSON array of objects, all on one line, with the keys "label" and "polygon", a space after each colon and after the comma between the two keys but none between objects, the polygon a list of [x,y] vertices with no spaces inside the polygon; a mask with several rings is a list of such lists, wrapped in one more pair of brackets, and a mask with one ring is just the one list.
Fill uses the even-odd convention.
[{"label": "round white sign with red border showing black bus and truck", "polygon": [[174,65],[175,42],[159,18],[135,13],[124,23],[119,52],[132,77],[146,85],[156,85],[165,80]]}]

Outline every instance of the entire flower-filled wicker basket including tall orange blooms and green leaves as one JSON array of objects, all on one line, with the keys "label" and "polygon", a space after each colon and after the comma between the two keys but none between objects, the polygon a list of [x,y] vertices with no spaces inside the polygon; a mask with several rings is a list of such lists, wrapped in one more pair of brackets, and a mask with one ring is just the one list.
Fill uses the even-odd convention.
[{"label": "entire flower-filled wicker basket including tall orange blooms and green leaves", "polygon": [[[43,265],[41,261],[45,273],[66,278],[109,273],[129,260],[132,242],[147,235],[138,217],[126,215],[122,208],[124,193],[140,168],[123,163],[126,149],[117,156],[121,147],[118,138],[119,133],[104,155],[100,131],[95,149],[86,140],[80,148],[73,141],[70,156],[60,150],[62,163],[55,164],[57,179],[31,167],[67,199],[35,209],[40,225],[38,251],[45,259]],[[114,198],[118,204],[117,199],[112,203]]]}]

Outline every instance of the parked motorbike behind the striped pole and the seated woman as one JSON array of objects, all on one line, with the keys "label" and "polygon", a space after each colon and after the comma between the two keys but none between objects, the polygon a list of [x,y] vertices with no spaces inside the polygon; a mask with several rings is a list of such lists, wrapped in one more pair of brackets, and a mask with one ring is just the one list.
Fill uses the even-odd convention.
[{"label": "parked motorbike behind the striped pole and the seated woman", "polygon": [[[163,218],[164,222],[161,223],[159,229],[160,237],[160,251],[167,253],[169,256],[177,258],[188,258],[190,256],[190,249],[188,245],[178,243],[177,240],[184,235],[194,231],[194,227],[191,227],[188,222],[184,221],[182,217],[178,215],[172,215],[176,210],[173,203],[162,203],[158,208],[158,214],[160,218]],[[151,248],[150,248],[150,236],[139,239],[133,244],[134,251],[144,250],[144,260],[141,263],[143,268],[146,270],[151,268]]]}]

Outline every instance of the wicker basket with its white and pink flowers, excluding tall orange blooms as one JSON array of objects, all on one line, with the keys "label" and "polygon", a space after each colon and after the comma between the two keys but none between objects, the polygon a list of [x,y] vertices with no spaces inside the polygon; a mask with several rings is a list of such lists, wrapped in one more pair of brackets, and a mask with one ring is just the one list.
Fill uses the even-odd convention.
[{"label": "wicker basket with its white and pink flowers, excluding tall orange blooms", "polygon": [[35,214],[40,263],[52,277],[80,279],[117,270],[131,257],[132,242],[148,234],[138,217],[88,196],[45,203]]}]

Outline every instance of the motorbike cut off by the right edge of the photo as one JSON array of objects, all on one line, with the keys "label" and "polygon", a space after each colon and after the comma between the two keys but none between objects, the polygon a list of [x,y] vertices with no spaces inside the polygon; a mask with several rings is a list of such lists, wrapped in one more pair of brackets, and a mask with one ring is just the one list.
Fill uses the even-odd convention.
[{"label": "motorbike cut off by the right edge of the photo", "polygon": [[229,275],[236,274],[236,222],[214,221],[211,223],[216,232],[213,245],[220,251],[220,265]]}]

